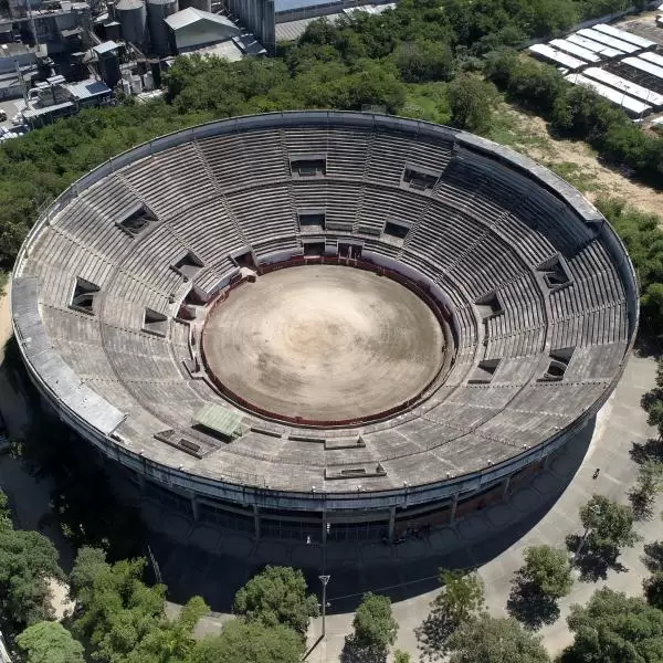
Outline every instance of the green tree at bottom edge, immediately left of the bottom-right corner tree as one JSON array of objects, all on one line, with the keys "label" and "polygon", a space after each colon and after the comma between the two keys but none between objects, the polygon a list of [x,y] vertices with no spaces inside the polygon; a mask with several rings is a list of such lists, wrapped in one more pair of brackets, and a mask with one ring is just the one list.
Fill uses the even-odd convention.
[{"label": "green tree at bottom edge, immediately left of the bottom-right corner tree", "polygon": [[549,663],[539,638],[514,619],[488,614],[470,620],[451,634],[450,663]]}]

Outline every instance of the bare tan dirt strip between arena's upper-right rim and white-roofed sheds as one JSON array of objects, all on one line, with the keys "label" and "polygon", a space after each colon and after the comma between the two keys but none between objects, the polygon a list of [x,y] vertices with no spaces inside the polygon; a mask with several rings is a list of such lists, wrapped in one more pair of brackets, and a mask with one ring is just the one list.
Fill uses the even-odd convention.
[{"label": "bare tan dirt strip between arena's upper-right rim and white-roofed sheds", "polygon": [[653,214],[663,213],[663,193],[629,179],[599,162],[596,152],[582,141],[558,140],[546,122],[506,104],[499,109],[504,122],[495,139],[551,168],[580,189],[592,202],[601,196],[624,198],[629,204]]}]

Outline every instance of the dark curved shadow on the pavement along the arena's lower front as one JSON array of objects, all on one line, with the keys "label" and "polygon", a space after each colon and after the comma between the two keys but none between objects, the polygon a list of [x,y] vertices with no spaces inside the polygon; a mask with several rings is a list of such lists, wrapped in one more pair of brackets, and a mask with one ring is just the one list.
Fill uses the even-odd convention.
[{"label": "dark curved shadow on the pavement along the arena's lower front", "polygon": [[[223,532],[214,551],[189,543],[191,538],[182,526],[179,540],[165,534],[164,523],[156,528],[147,522],[150,549],[158,564],[164,582],[169,588],[169,599],[183,602],[191,594],[201,594],[212,610],[225,612],[232,599],[255,572],[260,571],[273,554],[274,564],[302,568],[308,586],[319,591],[318,576],[324,571],[332,576],[327,588],[328,613],[351,611],[367,591],[388,596],[392,601],[432,591],[439,587],[440,568],[466,569],[480,567],[511,547],[532,529],[554,507],[575,476],[594,429],[594,420],[567,445],[564,469],[546,473],[545,492],[522,517],[504,527],[488,526],[485,536],[465,540],[456,536],[457,545],[449,550],[435,550],[428,543],[408,541],[398,547],[385,547],[379,541],[348,541],[333,544],[326,551],[318,546],[305,546],[303,541],[262,540],[260,547],[236,532]],[[555,464],[554,464],[555,465]],[[507,503],[508,504],[508,503]],[[517,509],[513,509],[516,513]],[[490,522],[491,509],[481,512],[480,517]],[[520,512],[518,512],[520,513]],[[162,518],[161,518],[162,519]],[[180,518],[181,520],[181,518]],[[434,534],[434,533],[433,533]],[[455,530],[457,535],[457,529]],[[181,539],[185,540],[181,540]],[[431,537],[432,538],[432,537]],[[304,550],[304,556],[302,551]],[[309,552],[309,559],[305,557]],[[297,560],[293,559],[297,555]],[[373,555],[382,559],[375,559]]]}]

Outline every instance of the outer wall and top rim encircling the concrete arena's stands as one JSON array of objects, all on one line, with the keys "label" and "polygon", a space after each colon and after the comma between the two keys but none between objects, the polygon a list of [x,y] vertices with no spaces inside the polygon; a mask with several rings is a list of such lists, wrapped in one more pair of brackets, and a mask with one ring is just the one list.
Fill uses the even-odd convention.
[{"label": "outer wall and top rim encircling the concrete arena's stands", "polygon": [[[21,249],[17,259],[14,273],[18,275],[21,274],[23,263],[28,259],[33,243],[39,238],[42,229],[49,225],[51,219],[57,211],[92,185],[119,168],[149,155],[160,152],[167,148],[188,143],[194,138],[232,133],[236,131],[238,128],[259,129],[274,126],[288,126],[288,124],[295,123],[304,126],[307,124],[311,124],[312,126],[328,124],[330,126],[340,125],[347,127],[373,127],[379,125],[381,129],[386,130],[407,129],[409,131],[417,131],[421,135],[430,134],[432,136],[443,133],[448,138],[453,139],[456,145],[478,151],[491,159],[494,159],[501,167],[511,168],[516,171],[526,171],[528,177],[537,180],[541,188],[554,191],[565,204],[573,208],[581,218],[588,220],[591,219],[596,222],[597,215],[599,215],[596,209],[590,206],[578,191],[549,170],[508,148],[497,146],[463,131],[456,131],[454,129],[423,122],[404,120],[397,117],[373,116],[370,114],[338,112],[267,114],[220,120],[166,135],[102,164],[98,168],[91,171],[66,189],[49,207],[49,209],[41,214]],[[638,328],[638,283],[632,264],[621,240],[604,220],[600,225],[600,238],[610,253],[611,260],[622,280],[624,291],[628,295],[628,354],[633,346]],[[391,269],[398,267],[397,263],[392,261],[383,261],[382,266]],[[411,272],[411,269],[403,269],[401,273],[403,273],[404,276],[410,277],[412,276]],[[424,485],[403,485],[402,487],[385,491],[366,491],[361,493],[355,491],[345,493],[278,491],[269,487],[266,484],[251,485],[251,482],[239,483],[235,481],[211,480],[178,470],[177,467],[167,466],[162,463],[157,463],[146,454],[123,443],[122,440],[118,440],[113,434],[106,434],[92,425],[84,415],[85,408],[80,404],[77,406],[76,403],[65,402],[65,400],[56,394],[52,386],[44,381],[40,372],[33,366],[25,351],[24,344],[29,329],[29,325],[24,324],[24,315],[29,312],[23,311],[22,305],[20,294],[17,293],[15,288],[12,286],[12,322],[22,358],[32,382],[62,421],[81,434],[85,440],[90,441],[103,456],[116,461],[119,465],[128,470],[131,475],[138,477],[139,483],[144,484],[145,480],[148,480],[155,485],[160,486],[160,488],[190,499],[191,514],[193,517],[198,515],[199,503],[206,501],[209,501],[212,504],[225,505],[230,512],[236,509],[238,513],[241,512],[245,515],[253,514],[253,528],[256,536],[261,535],[261,513],[277,514],[286,512],[293,515],[296,512],[305,512],[307,515],[317,514],[320,517],[323,540],[326,539],[325,532],[328,523],[328,512],[336,513],[338,514],[339,519],[347,519],[348,522],[354,519],[376,519],[381,523],[383,527],[389,528],[390,536],[393,536],[394,527],[398,529],[398,525],[394,525],[394,522],[398,518],[398,514],[401,514],[403,508],[408,508],[408,513],[414,515],[418,511],[428,513],[428,506],[438,505],[436,507],[443,509],[445,513],[444,519],[453,519],[461,515],[459,505],[470,503],[475,496],[485,494],[486,492],[492,492],[495,495],[502,496],[506,494],[512,477],[528,475],[536,469],[543,466],[556,450],[560,449],[571,440],[596,415],[615,387],[624,367],[624,364],[622,362],[618,375],[612,379],[610,387],[602,392],[600,399],[570,425],[560,430],[557,434],[547,439],[538,446],[528,449],[506,462],[487,466],[482,471]],[[32,324],[34,324],[34,320],[32,320]],[[478,504],[480,499],[474,499],[474,508],[476,508]],[[302,515],[304,516],[304,514]],[[293,515],[293,517],[296,517],[296,515]],[[415,519],[417,518],[414,518],[414,520]],[[427,515],[424,519],[429,520],[430,516]],[[316,527],[318,527],[318,525],[316,525]]]}]

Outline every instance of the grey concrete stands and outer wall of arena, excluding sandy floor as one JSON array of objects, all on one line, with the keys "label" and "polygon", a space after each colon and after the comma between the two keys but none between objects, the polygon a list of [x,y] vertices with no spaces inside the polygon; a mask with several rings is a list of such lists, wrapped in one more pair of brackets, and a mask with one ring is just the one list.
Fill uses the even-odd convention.
[{"label": "grey concrete stands and outer wall of arena, excluding sandy floor", "polygon": [[[366,182],[366,213],[343,208],[343,200],[354,200],[358,177]],[[337,202],[329,197],[335,190],[343,192]],[[319,207],[311,200],[318,191],[327,201],[324,227],[304,223],[316,218]],[[234,220],[227,227],[206,225],[206,213],[219,223],[229,208]],[[108,211],[85,215],[94,209]],[[123,231],[146,209],[145,233]],[[438,234],[450,209],[457,221],[449,232],[462,228],[466,235]],[[93,232],[108,218],[115,224]],[[169,248],[172,238],[193,231],[192,220],[207,230],[202,240],[192,236],[187,251],[179,239]],[[242,235],[230,241],[238,225]],[[78,246],[88,236],[107,242],[86,254],[103,251],[104,265],[127,267],[112,277],[88,271],[51,278],[41,271],[50,264],[44,252],[69,232],[81,234]],[[223,264],[208,262],[207,244],[217,255],[227,252]],[[474,255],[482,246],[485,253]],[[463,259],[431,269],[454,251]],[[594,287],[589,255],[610,275],[603,290]],[[148,292],[122,281],[137,269],[125,261],[138,256],[154,270],[141,278],[164,285]],[[192,430],[189,411],[228,399],[204,373],[196,312],[182,318],[197,307],[208,313],[191,297],[224,296],[244,263],[260,274],[325,261],[415,278],[450,316],[451,370],[417,404],[359,428],[297,430],[230,402],[248,427],[239,440],[219,443]],[[94,308],[72,308],[76,293],[94,299]],[[146,491],[171,495],[176,508],[201,520],[320,541],[394,537],[502,501],[576,439],[608,399],[632,346],[636,302],[618,236],[546,169],[446,127],[345,113],[212,123],[118,156],[72,186],[38,222],[12,282],[14,330],[33,381],[64,421]],[[162,336],[143,326],[146,306],[166,320]],[[525,311],[538,317],[523,322]],[[72,352],[81,343],[86,352]],[[83,359],[97,362],[92,373]],[[129,412],[129,403],[143,409]]]}]

